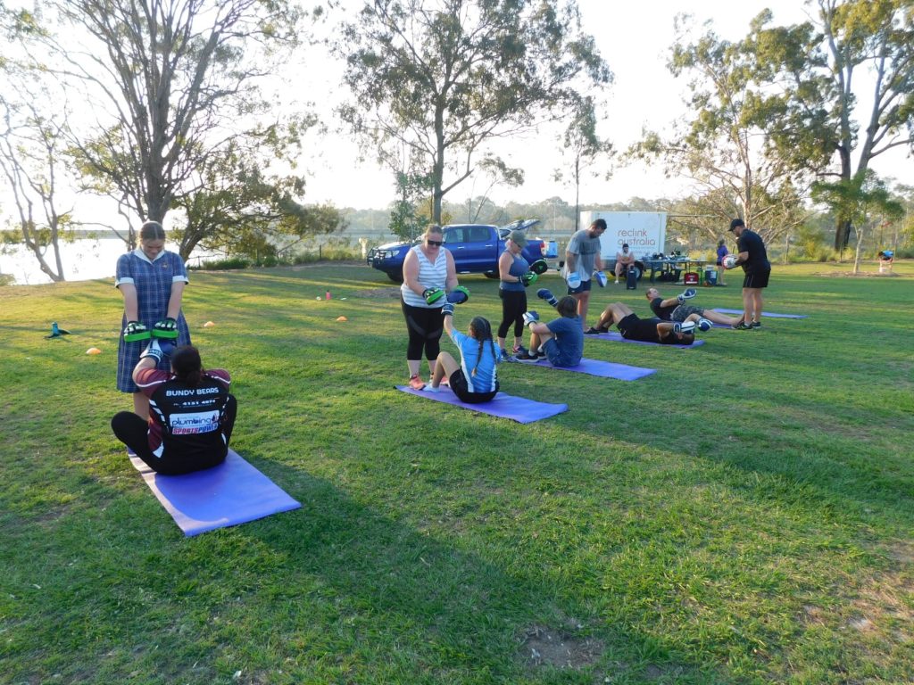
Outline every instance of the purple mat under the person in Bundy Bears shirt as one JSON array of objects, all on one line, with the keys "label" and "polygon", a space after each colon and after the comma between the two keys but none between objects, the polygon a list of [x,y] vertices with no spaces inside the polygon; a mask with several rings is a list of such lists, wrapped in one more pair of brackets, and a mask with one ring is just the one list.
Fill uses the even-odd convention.
[{"label": "purple mat under the person in Bundy Bears shirt", "polygon": [[130,461],[187,537],[302,506],[231,449],[218,466],[183,476],[160,475],[139,457]]}]

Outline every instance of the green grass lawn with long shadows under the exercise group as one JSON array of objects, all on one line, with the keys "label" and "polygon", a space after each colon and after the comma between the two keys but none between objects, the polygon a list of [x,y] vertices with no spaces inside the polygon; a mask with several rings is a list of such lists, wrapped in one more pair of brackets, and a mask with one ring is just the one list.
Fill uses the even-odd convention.
[{"label": "green grass lawn with long shadows under the exercise group", "polygon": [[[526,426],[393,390],[377,271],[194,273],[233,447],[303,503],[194,538],[109,427],[112,281],[0,288],[0,683],[914,682],[914,263],[847,270],[776,266],[767,308],[808,319],[585,343],[632,383],[505,364],[570,406]],[[497,326],[462,283],[457,324]],[[611,285],[591,322],[611,300],[647,311]]]}]

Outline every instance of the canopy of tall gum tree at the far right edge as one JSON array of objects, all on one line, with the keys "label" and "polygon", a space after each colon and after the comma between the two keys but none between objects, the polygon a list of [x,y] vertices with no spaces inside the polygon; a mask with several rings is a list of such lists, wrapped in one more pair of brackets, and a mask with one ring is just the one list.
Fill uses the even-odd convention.
[{"label": "canopy of tall gum tree at the far right edge", "polygon": [[[815,0],[810,21],[771,26],[765,11],[744,45],[771,146],[794,169],[852,185],[880,155],[914,145],[914,3]],[[840,221],[834,248],[847,245]]]}]

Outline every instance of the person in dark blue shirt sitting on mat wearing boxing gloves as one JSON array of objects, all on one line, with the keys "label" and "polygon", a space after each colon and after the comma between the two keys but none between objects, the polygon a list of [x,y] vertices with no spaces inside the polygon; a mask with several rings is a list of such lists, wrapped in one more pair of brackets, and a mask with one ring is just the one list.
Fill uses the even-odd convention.
[{"label": "person in dark blue shirt sitting on mat wearing boxing gloves", "polygon": [[540,359],[553,366],[577,366],[584,355],[584,333],[578,318],[578,300],[568,295],[558,300],[546,288],[537,290],[537,297],[546,300],[561,314],[548,323],[539,321],[536,311],[526,311],[524,322],[530,329],[530,349],[518,354],[518,362],[532,364]]}]

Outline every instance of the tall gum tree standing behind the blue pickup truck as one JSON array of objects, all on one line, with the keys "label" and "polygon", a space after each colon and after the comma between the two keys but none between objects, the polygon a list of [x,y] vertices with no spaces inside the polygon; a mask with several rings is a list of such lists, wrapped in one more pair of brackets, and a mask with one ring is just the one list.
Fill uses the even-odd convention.
[{"label": "tall gum tree standing behind the blue pickup truck", "polygon": [[436,222],[489,143],[561,118],[579,90],[611,80],[577,4],[558,0],[367,0],[335,53],[353,96],[343,120],[381,158],[409,150]]}]

